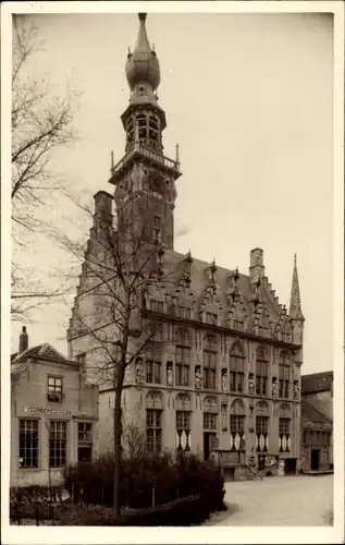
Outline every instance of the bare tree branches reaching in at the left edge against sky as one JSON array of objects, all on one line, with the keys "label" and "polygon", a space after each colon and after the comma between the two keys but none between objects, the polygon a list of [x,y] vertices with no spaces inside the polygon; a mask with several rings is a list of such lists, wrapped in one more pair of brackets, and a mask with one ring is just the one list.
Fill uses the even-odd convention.
[{"label": "bare tree branches reaching in at the left edge against sky", "polygon": [[[73,111],[76,94],[54,96],[49,82],[32,76],[32,61],[39,53],[37,28],[26,16],[13,17],[12,57],[12,317],[26,316],[60,290],[35,281],[23,255],[34,237],[50,233],[47,210],[54,193],[66,183],[51,169],[54,152],[75,140]],[[45,214],[46,211],[46,219]]]}]

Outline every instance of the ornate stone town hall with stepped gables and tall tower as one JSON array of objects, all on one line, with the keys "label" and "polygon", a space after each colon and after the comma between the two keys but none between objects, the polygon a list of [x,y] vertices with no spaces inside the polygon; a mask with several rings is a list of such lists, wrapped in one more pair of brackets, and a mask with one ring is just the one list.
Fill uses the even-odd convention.
[{"label": "ornate stone town hall with stepped gables and tall tower", "polygon": [[[112,159],[113,194],[95,195],[67,331],[69,358],[83,361],[89,380],[99,386],[100,451],[111,449],[113,436],[114,386],[104,361],[126,342],[133,361],[123,383],[124,426],[131,421],[140,429],[148,449],[186,450],[206,459],[215,453],[233,479],[249,476],[252,465],[294,473],[305,322],[296,256],[287,311],[268,278],[261,249],[251,250],[248,271],[175,252],[175,186],[182,172],[178,146],[174,159],[163,155],[167,120],[158,104],[160,68],[146,14],[139,14],[125,70],[131,98],[121,118],[124,155],[116,165]],[[107,244],[104,232],[112,233]],[[120,239],[128,261],[118,254]],[[111,257],[106,246],[108,254],[114,252]],[[116,264],[114,283],[110,263]],[[140,296],[132,292],[121,310],[126,278],[132,288],[137,282]],[[126,312],[133,324],[124,331]]]}]

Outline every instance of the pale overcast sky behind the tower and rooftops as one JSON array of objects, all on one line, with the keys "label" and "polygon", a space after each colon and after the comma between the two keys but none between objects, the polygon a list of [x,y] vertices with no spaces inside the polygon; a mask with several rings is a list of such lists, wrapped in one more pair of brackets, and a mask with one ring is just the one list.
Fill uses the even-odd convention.
[{"label": "pale overcast sky behind the tower and rooftops", "polygon": [[[124,153],[120,120],[135,14],[33,16],[45,51],[30,65],[64,92],[82,92],[81,138],[56,165],[77,191],[112,192],[110,150]],[[161,66],[158,89],[168,128],[164,153],[180,143],[175,250],[248,274],[249,252],[264,252],[266,274],[289,303],[297,253],[305,324],[304,373],[332,368],[333,26],[320,14],[149,14],[148,37]],[[54,210],[73,216],[65,204]],[[73,218],[71,218],[73,220]],[[87,237],[85,232],[85,238]],[[28,263],[59,263],[51,242]],[[30,344],[66,353],[70,312],[48,305],[28,324]],[[13,331],[13,350],[17,332]]]}]

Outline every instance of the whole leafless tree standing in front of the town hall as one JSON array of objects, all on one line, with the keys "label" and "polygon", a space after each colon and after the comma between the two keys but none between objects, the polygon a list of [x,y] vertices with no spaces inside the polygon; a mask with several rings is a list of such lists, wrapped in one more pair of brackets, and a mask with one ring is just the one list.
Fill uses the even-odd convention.
[{"label": "whole leafless tree standing in front of the town hall", "polygon": [[[138,201],[128,194],[127,209]],[[152,240],[152,211],[149,197],[140,196],[143,214],[135,221],[118,218],[116,229],[111,213],[111,195],[95,195],[96,213],[90,239],[83,246],[64,237],[60,240],[82,262],[82,276],[72,312],[69,342],[72,354],[87,352],[85,367],[88,376],[99,385],[114,390],[113,506],[120,516],[120,481],[122,460],[121,397],[125,375],[135,368],[137,383],[144,382],[143,354],[152,343],[159,343],[173,312],[175,289],[187,284],[185,266],[164,265],[164,250],[159,238]],[[171,295],[172,304],[149,308],[147,301],[155,293]],[[155,299],[155,295],[153,295]],[[164,311],[164,312],[163,312]],[[84,348],[83,348],[84,347]],[[134,367],[135,365],[135,367]]]}]

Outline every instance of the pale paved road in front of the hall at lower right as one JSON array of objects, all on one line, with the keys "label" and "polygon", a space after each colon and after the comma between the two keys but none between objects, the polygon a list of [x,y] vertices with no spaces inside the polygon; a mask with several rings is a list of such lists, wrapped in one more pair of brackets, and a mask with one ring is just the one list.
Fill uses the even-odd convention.
[{"label": "pale paved road in front of the hall at lower right", "polygon": [[214,517],[212,525],[330,525],[333,475],[264,477],[225,483],[225,501],[238,510]]}]

